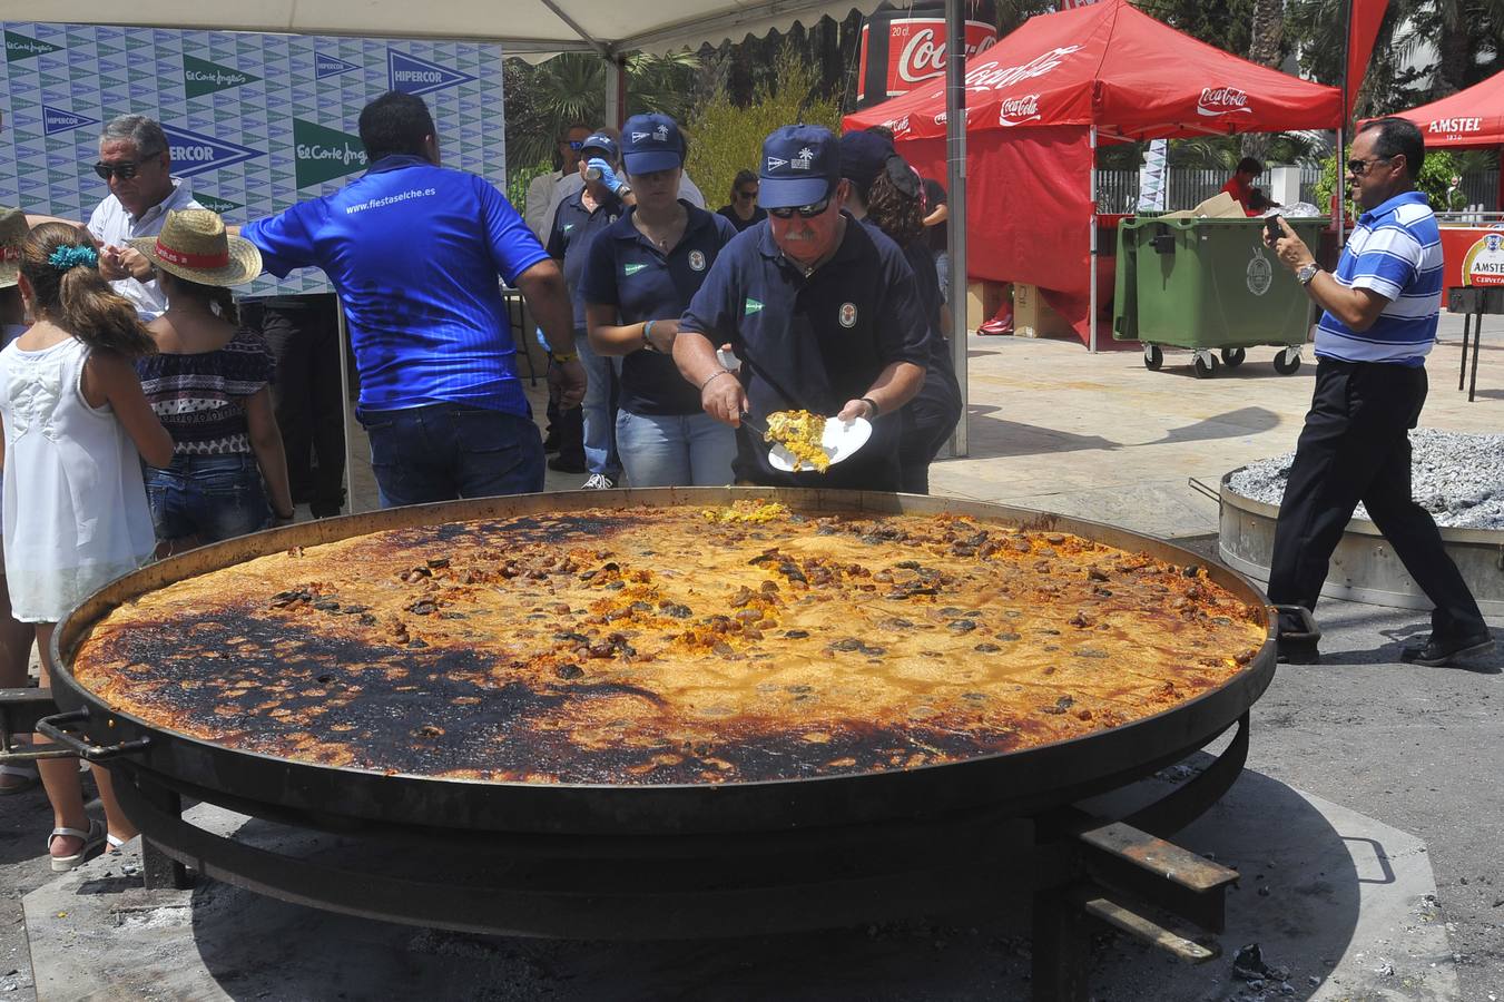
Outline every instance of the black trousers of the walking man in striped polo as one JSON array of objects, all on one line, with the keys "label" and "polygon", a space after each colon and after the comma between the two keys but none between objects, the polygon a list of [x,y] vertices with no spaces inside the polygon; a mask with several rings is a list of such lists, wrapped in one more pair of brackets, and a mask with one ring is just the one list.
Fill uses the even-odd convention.
[{"label": "black trousers of the walking man in striped polo", "polygon": [[1305,429],[1280,504],[1269,567],[1275,605],[1316,608],[1333,551],[1358,501],[1436,606],[1438,636],[1487,629],[1478,603],[1411,498],[1409,429],[1426,403],[1421,367],[1322,358]]}]

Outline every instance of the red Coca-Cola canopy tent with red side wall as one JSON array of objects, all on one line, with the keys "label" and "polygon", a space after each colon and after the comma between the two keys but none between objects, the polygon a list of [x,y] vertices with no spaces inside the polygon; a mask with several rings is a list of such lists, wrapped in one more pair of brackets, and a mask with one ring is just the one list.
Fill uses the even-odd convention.
[{"label": "red Coca-Cola canopy tent with red side wall", "polygon": [[[967,271],[1041,286],[1096,348],[1095,147],[1099,141],[1330,129],[1342,92],[1182,35],[1126,0],[1030,18],[967,62]],[[886,125],[945,176],[945,86],[845,117]],[[1105,284],[1105,283],[1104,283]]]}]

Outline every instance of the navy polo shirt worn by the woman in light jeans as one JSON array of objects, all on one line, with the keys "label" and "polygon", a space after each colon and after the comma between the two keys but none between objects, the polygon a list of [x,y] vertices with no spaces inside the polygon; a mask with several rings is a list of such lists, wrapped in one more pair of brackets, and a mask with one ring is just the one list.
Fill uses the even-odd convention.
[{"label": "navy polo shirt worn by the woman in light jeans", "polygon": [[[684,236],[666,254],[633,224],[635,208],[591,244],[581,281],[585,302],[617,307],[621,323],[677,320],[699,292],[720,248],[737,235],[723,217],[687,202]],[[621,409],[630,414],[699,414],[699,390],[668,355],[638,349],[621,360]]]}]

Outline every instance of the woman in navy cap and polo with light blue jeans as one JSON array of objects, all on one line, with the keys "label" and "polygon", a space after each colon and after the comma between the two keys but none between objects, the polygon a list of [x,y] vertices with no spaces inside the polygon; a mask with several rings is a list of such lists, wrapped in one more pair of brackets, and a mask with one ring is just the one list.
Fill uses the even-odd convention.
[{"label": "woman in navy cap and polo with light blue jeans", "polygon": [[617,451],[633,487],[726,484],[735,432],[705,414],[672,346],[678,317],[735,229],[678,199],[684,137],[674,119],[627,119],[621,155],[638,203],[596,238],[581,281],[590,346],[623,357]]}]

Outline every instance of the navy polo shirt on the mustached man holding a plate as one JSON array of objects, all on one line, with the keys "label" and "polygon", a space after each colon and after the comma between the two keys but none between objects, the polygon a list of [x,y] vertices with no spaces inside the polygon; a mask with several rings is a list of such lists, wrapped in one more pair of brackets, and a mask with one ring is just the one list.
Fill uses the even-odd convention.
[{"label": "navy polo shirt on the mustached man holding a plate", "polygon": [[[808,277],[784,257],[767,220],[743,230],[720,250],[680,328],[731,343],[747,403],[764,421],[790,409],[832,417],[889,364],[929,361],[914,272],[893,241],[850,217],[836,253]],[[899,430],[901,415],[883,414],[851,459],[824,474],[790,474],[769,463],[767,444],[743,424],[732,468],[738,480],[770,486],[898,490]]]}]

